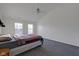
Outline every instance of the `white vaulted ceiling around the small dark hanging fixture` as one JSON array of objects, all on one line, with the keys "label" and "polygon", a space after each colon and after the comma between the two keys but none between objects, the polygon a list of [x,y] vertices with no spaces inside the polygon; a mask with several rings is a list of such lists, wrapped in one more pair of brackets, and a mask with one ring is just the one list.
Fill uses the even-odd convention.
[{"label": "white vaulted ceiling around the small dark hanging fixture", "polygon": [[[63,5],[57,3],[3,3],[0,4],[0,14],[6,17],[38,21],[56,7]],[[40,9],[39,13],[36,11],[37,8]]]}]

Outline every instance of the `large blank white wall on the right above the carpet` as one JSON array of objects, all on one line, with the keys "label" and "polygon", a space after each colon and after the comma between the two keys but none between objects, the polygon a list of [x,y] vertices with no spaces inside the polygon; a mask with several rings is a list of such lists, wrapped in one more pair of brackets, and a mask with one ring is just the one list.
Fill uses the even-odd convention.
[{"label": "large blank white wall on the right above the carpet", "polygon": [[79,4],[57,7],[38,23],[38,34],[79,46]]}]

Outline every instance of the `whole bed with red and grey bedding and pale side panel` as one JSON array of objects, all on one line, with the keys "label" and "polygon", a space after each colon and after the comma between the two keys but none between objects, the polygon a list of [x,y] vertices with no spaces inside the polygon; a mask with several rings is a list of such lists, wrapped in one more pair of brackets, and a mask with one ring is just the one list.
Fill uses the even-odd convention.
[{"label": "whole bed with red and grey bedding and pale side panel", "polygon": [[34,34],[13,36],[7,39],[10,39],[10,41],[0,42],[0,48],[10,48],[11,56],[20,54],[43,44],[43,38]]}]

